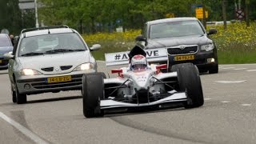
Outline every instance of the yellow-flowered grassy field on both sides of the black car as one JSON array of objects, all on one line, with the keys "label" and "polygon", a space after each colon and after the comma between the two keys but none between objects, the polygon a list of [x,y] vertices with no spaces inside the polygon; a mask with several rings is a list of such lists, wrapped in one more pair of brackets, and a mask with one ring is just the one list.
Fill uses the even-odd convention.
[{"label": "yellow-flowered grassy field on both sides of the black car", "polygon": [[[207,26],[207,30],[216,28],[217,34],[210,35],[218,46],[219,63],[252,63],[256,62],[256,22],[234,22],[223,30],[222,25]],[[82,37],[89,46],[98,43],[102,49],[93,51],[94,57],[104,60],[105,53],[130,50],[135,44],[134,38],[141,30],[127,30],[124,33],[84,34]]]}]

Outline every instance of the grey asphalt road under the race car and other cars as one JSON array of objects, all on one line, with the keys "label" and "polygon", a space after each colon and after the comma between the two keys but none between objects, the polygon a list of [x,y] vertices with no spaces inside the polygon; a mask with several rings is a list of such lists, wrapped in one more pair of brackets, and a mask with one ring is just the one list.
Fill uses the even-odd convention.
[{"label": "grey asphalt road under the race car and other cars", "polygon": [[80,91],[12,103],[7,71],[1,70],[0,143],[255,143],[256,64],[222,65],[218,74],[201,78],[202,107],[84,118]]}]

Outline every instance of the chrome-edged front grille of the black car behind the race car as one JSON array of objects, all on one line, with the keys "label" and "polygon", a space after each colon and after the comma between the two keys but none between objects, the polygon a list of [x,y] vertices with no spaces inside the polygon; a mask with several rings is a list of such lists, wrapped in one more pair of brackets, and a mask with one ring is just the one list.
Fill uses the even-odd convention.
[{"label": "chrome-edged front grille of the black car behind the race car", "polygon": [[198,46],[185,46],[183,49],[180,47],[170,47],[167,49],[168,54],[176,55],[176,54],[195,54],[198,52]]}]

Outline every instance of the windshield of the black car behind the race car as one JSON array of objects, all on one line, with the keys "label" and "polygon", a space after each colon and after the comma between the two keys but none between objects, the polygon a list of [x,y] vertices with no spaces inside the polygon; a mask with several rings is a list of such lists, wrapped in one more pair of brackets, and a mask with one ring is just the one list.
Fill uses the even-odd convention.
[{"label": "windshield of the black car behind the race car", "polygon": [[204,34],[198,21],[166,22],[150,26],[150,38],[171,38],[197,34]]}]

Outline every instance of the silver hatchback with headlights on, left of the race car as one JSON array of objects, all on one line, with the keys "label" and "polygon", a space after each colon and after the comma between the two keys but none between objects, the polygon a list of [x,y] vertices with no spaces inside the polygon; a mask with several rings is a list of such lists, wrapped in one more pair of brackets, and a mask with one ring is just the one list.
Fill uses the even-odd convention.
[{"label": "silver hatchback with headlights on, left of the race car", "polygon": [[61,90],[82,90],[82,75],[97,71],[80,34],[68,26],[49,26],[22,30],[14,44],[8,72],[13,102],[26,103],[26,96]]}]

